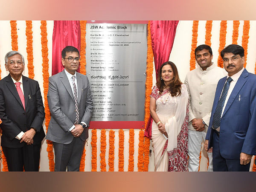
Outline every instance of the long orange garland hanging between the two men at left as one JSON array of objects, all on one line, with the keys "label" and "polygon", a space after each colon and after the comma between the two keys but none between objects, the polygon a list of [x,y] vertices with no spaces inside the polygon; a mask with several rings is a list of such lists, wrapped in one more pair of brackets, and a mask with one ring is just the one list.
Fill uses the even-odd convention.
[{"label": "long orange garland hanging between the two men at left", "polygon": [[[46,131],[48,131],[49,122],[51,119],[51,114],[49,110],[47,93],[48,93],[48,84],[49,84],[49,59],[48,59],[48,47],[47,47],[47,22],[45,20],[41,20],[41,44],[42,44],[42,58],[43,58],[43,86],[44,86],[44,111],[45,111],[45,127]],[[54,171],[54,154],[53,154],[53,146],[52,142],[47,140],[47,152],[49,158],[49,170],[51,172]]]}]

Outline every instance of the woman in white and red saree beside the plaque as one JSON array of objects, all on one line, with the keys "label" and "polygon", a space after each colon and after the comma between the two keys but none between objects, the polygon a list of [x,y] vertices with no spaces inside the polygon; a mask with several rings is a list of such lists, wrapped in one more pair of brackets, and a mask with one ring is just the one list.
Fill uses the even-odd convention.
[{"label": "woman in white and red saree beside the plaque", "polygon": [[187,171],[189,96],[171,61],[161,65],[150,96],[155,171]]}]

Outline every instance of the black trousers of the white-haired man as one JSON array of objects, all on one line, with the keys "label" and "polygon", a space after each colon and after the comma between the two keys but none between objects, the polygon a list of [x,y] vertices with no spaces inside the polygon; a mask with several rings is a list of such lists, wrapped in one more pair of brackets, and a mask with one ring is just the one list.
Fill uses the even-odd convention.
[{"label": "black trousers of the white-haired man", "polygon": [[9,172],[38,172],[41,145],[24,145],[21,148],[3,147]]}]

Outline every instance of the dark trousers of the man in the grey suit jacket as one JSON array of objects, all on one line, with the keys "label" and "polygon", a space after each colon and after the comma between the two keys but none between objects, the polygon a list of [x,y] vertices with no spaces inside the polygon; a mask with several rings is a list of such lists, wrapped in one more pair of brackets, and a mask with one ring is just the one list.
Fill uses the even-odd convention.
[{"label": "dark trousers of the man in the grey suit jacket", "polygon": [[55,172],[79,172],[85,141],[74,137],[71,143],[52,142],[55,154]]}]

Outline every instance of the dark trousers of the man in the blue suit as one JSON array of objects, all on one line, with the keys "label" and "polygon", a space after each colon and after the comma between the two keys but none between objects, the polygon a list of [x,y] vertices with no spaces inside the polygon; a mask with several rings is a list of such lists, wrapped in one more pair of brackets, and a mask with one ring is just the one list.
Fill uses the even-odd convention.
[{"label": "dark trousers of the man in the blue suit", "polygon": [[214,172],[248,172],[250,163],[241,165],[240,159],[225,159],[220,154],[219,136],[214,131],[212,134],[212,166]]}]

